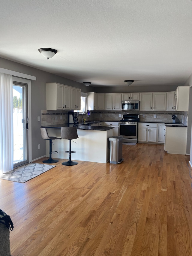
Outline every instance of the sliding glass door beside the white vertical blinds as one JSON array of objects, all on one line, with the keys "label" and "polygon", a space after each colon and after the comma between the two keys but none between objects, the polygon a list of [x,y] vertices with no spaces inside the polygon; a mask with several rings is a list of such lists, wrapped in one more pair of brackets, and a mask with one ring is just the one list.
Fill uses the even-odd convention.
[{"label": "sliding glass door beside the white vertical blinds", "polygon": [[13,166],[29,162],[27,85],[13,82]]}]

